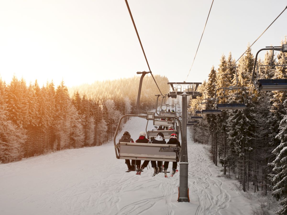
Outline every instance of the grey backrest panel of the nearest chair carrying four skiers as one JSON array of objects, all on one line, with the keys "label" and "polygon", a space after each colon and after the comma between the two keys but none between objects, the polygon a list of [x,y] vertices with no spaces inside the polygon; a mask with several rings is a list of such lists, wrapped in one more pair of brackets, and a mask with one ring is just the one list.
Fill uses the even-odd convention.
[{"label": "grey backrest panel of the nearest chair carrying four skiers", "polygon": [[127,143],[117,144],[119,159],[177,162],[180,148],[173,144]]}]

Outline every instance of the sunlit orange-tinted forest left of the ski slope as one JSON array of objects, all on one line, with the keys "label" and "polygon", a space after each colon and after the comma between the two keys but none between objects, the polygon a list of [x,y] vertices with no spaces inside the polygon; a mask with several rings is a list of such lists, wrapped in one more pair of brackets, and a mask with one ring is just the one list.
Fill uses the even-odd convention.
[{"label": "sunlit orange-tinted forest left of the ski slope", "polygon": [[[167,93],[168,79],[154,77]],[[15,76],[9,84],[0,79],[0,163],[111,140],[122,115],[138,114],[138,83],[137,76],[68,90],[64,81],[40,87]],[[145,77],[143,109],[155,107],[157,91],[153,79]]]}]

